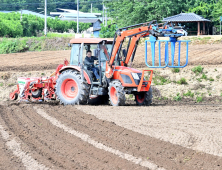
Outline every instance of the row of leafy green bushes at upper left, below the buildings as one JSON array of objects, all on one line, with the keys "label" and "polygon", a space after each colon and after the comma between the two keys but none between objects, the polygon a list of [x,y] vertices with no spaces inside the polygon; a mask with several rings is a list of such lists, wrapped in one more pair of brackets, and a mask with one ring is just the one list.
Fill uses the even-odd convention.
[{"label": "row of leafy green bushes at upper left, below the buildings", "polygon": [[[0,13],[0,37],[31,37],[37,36],[44,29],[44,19],[35,15],[22,15],[19,13]],[[91,23],[79,23],[79,31],[87,30]],[[77,22],[62,21],[58,17],[47,18],[47,29],[54,32],[77,31]]]}]

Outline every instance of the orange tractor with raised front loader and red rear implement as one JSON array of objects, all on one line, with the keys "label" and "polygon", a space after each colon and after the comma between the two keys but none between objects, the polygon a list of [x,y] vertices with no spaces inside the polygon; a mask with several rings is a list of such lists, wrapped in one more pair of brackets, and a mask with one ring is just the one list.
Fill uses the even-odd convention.
[{"label": "orange tractor with raised front loader and red rear implement", "polygon": [[[158,26],[159,24],[154,24],[152,21],[124,27],[116,31],[113,40],[105,38],[72,39],[69,43],[71,46],[69,64],[66,60],[64,65],[59,65],[54,77],[51,76],[49,79],[36,78],[23,82],[22,89],[19,88],[20,81],[17,90],[10,94],[10,98],[14,100],[20,93],[20,96],[25,99],[30,97],[44,99],[45,96],[45,98],[57,99],[64,105],[87,104],[97,99],[101,103],[110,101],[113,106],[123,106],[126,101],[125,95],[133,94],[137,105],[150,105],[152,103],[153,71],[143,70],[141,72],[130,67],[139,40],[149,36],[151,49],[155,53],[153,45],[155,46],[158,37],[170,37],[168,42],[171,42],[172,48],[173,44],[175,47],[177,38],[182,36],[176,34],[173,29],[169,29],[167,24],[164,24],[162,28]],[[126,38],[128,38],[128,44],[125,49],[122,46]],[[84,64],[87,51],[92,51],[93,56],[98,57],[94,66],[98,69],[99,79],[96,79],[93,72]],[[155,60],[154,53],[152,51],[152,59]],[[165,67],[170,67],[167,54],[165,64]],[[154,62],[149,67],[155,67]],[[149,72],[148,80],[145,79],[145,72]]]}]

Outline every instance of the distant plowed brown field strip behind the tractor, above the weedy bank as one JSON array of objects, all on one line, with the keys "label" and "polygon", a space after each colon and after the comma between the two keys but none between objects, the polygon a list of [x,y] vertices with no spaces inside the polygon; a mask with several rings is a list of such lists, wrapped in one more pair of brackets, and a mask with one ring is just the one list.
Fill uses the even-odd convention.
[{"label": "distant plowed brown field strip behind the tractor, above the weedy bank", "polygon": [[[189,46],[189,65],[218,65],[222,64],[222,45],[203,44]],[[182,46],[181,64],[185,63],[185,46]],[[150,52],[150,48],[148,47]],[[56,69],[58,64],[63,64],[64,59],[69,60],[70,50],[26,52],[0,55],[0,71],[39,71]],[[158,54],[158,52],[157,52]],[[164,51],[162,51],[162,56]],[[151,54],[149,54],[151,56]],[[164,57],[162,57],[163,59]],[[150,63],[151,57],[148,58]],[[139,46],[136,52],[134,68],[144,68],[145,47]]]}]

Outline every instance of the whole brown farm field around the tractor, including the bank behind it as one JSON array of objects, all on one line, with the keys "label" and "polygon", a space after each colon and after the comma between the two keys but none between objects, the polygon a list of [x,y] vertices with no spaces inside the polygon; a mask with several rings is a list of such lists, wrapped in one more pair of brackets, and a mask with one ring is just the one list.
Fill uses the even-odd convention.
[{"label": "whole brown farm field around the tractor, including the bank behind it", "polygon": [[[137,51],[133,67],[144,69],[144,47]],[[69,56],[0,55],[0,169],[222,169],[221,44],[191,45],[179,73],[154,69],[167,82],[153,81],[149,107],[130,96],[123,107],[8,101],[18,77],[49,76]]]}]

